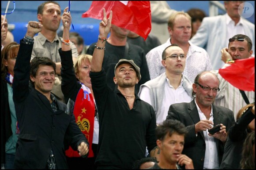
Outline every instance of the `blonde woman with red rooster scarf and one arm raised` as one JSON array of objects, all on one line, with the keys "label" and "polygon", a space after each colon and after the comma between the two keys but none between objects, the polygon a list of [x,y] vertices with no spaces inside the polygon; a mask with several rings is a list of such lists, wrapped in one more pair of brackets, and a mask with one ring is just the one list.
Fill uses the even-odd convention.
[{"label": "blonde woman with red rooster scarf and one arm raised", "polygon": [[[67,15],[64,17],[67,17]],[[69,22],[65,24],[65,21]],[[59,50],[62,77],[61,90],[66,103],[75,102],[73,110],[75,121],[89,142],[87,159],[79,156],[78,152],[71,147],[65,151],[66,158],[70,169],[96,169],[94,162],[98,146],[99,123],[89,76],[92,56],[79,55],[74,64],[74,69],[69,40],[71,16],[70,18],[62,18],[62,22],[64,25],[62,49]]]}]

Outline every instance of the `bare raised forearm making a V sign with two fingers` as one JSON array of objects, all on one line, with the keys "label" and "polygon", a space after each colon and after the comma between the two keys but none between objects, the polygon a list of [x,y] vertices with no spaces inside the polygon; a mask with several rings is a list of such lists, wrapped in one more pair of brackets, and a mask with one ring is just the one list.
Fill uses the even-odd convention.
[{"label": "bare raised forearm making a V sign with two fingers", "polygon": [[105,39],[107,38],[110,28],[111,28],[111,20],[112,20],[112,11],[110,11],[109,18],[107,19],[105,8],[103,8],[104,18],[100,22],[99,26],[99,38],[96,43],[95,50],[93,53],[92,61],[91,61],[91,72],[100,72],[102,70],[102,62],[104,57],[105,50]]}]

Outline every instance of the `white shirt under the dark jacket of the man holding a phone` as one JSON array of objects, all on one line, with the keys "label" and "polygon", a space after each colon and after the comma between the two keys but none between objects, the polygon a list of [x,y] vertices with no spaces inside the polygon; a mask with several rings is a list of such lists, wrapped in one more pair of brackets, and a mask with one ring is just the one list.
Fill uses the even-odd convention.
[{"label": "white shirt under the dark jacket of the man holding a phone", "polygon": [[[195,100],[196,103],[196,100]],[[206,120],[203,112],[201,112],[199,106],[196,103],[196,108],[199,113],[200,120]],[[212,105],[211,105],[211,114],[210,114],[210,121],[213,122],[213,112],[212,112]],[[211,125],[213,127],[213,125]],[[203,162],[203,169],[219,169],[219,162],[218,162],[218,150],[217,145],[215,142],[214,137],[208,135],[208,130],[203,131],[204,141],[205,141],[205,155],[204,155],[204,162]]]}]

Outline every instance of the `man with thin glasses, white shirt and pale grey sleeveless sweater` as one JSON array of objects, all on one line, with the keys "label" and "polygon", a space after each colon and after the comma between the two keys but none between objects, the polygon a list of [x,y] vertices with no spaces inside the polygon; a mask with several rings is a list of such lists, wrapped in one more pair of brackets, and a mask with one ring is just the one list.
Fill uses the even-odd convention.
[{"label": "man with thin glasses, white shirt and pale grey sleeveless sweater", "polygon": [[185,64],[184,51],[172,44],[162,53],[166,72],[140,86],[139,98],[153,106],[157,124],[166,120],[171,104],[192,101],[192,83],[182,75]]}]

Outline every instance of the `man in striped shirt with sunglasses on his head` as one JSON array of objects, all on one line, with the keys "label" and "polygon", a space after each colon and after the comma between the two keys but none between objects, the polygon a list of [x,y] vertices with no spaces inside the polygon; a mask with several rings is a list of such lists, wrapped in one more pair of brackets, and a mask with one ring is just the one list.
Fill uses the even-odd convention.
[{"label": "man in striped shirt with sunglasses on his head", "polygon": [[[238,59],[245,59],[252,56],[252,40],[243,34],[237,34],[229,39],[228,48],[223,48],[222,61],[226,64],[222,67],[226,68],[233,62]],[[241,92],[238,88],[234,87],[232,84],[227,82],[218,74],[218,70],[212,71],[220,80],[218,93],[219,96],[216,96],[215,105],[224,106],[234,112],[234,118],[237,117],[237,112],[244,107],[246,104]],[[234,79],[236,77],[234,76]],[[249,103],[255,101],[255,92],[254,91],[245,91],[245,94],[249,100]]]}]

